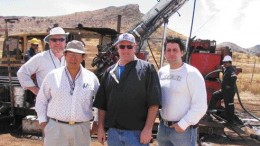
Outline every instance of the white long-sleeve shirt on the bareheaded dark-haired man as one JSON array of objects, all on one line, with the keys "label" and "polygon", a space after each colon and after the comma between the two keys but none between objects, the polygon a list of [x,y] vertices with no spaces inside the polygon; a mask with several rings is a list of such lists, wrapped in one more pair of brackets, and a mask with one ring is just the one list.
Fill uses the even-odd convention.
[{"label": "white long-sleeve shirt on the bareheaded dark-haired man", "polygon": [[201,73],[184,63],[178,69],[166,65],[158,75],[162,89],[162,118],[179,121],[182,129],[197,124],[207,110],[207,93]]}]

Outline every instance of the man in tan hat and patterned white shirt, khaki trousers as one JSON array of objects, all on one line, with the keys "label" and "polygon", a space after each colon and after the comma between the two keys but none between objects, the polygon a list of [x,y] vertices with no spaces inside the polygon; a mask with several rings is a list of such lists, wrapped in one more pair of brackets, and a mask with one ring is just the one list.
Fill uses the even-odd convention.
[{"label": "man in tan hat and patterned white shirt, khaki trousers", "polygon": [[73,40],[64,50],[66,66],[48,73],[36,97],[45,146],[90,145],[92,103],[99,81],[83,68],[84,46]]}]

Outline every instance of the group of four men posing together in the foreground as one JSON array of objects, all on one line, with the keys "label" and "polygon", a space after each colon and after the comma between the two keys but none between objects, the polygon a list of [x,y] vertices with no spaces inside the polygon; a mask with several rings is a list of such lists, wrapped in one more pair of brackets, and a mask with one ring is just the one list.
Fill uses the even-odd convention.
[{"label": "group of four men posing together in the foreground", "polygon": [[[167,38],[169,64],[157,73],[152,64],[136,58],[134,36],[121,34],[115,43],[120,59],[99,84],[81,65],[83,43],[66,45],[67,35],[61,27],[51,29],[44,38],[50,50],[36,54],[17,72],[22,87],[37,95],[44,145],[90,145],[92,105],[98,108],[102,144],[149,145],[159,108],[159,145],[196,144],[196,124],[207,110],[206,88],[200,72],[182,61],[185,47],[180,39]],[[31,79],[34,73],[37,85]]]}]

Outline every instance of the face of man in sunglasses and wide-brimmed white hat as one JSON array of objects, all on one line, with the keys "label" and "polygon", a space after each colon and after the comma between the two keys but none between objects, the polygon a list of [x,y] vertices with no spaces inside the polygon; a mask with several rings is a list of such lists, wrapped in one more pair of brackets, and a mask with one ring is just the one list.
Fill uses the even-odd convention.
[{"label": "face of man in sunglasses and wide-brimmed white hat", "polygon": [[61,52],[66,46],[66,37],[64,35],[53,35],[49,39],[50,49],[54,52]]}]

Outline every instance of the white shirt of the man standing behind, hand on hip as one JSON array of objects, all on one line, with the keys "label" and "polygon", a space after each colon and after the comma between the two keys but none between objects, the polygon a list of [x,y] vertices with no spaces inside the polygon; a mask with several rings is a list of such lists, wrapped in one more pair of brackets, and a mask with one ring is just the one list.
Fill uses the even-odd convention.
[{"label": "white shirt of the man standing behind, hand on hip", "polygon": [[36,86],[31,75],[36,73],[38,87],[41,87],[44,77],[55,68],[65,65],[65,58],[61,61],[51,50],[34,55],[29,61],[21,66],[17,72],[18,80],[23,88]]}]

